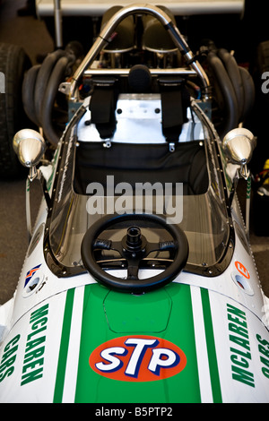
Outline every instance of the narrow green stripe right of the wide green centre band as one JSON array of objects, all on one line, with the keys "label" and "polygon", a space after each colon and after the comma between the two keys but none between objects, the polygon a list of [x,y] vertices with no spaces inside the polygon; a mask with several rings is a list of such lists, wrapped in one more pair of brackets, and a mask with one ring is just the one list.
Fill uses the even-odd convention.
[{"label": "narrow green stripe right of the wide green centre band", "polygon": [[202,296],[202,304],[203,304],[203,312],[204,312],[204,329],[205,329],[205,338],[206,338],[208,360],[209,360],[209,370],[210,370],[210,377],[211,377],[211,384],[212,384],[212,391],[213,391],[213,402],[221,403],[222,402],[221,382],[220,382],[216,348],[215,348],[215,342],[214,342],[213,322],[212,322],[212,314],[211,314],[208,290],[201,288],[201,296]]}]

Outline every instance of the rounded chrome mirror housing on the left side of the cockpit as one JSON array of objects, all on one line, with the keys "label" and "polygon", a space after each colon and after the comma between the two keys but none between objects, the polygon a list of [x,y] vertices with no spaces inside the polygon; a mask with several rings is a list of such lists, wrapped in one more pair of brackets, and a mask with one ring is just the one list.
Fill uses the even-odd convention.
[{"label": "rounded chrome mirror housing on the left side of the cockpit", "polygon": [[22,129],[13,137],[13,150],[22,165],[33,168],[39,164],[46,149],[46,142],[39,132]]}]

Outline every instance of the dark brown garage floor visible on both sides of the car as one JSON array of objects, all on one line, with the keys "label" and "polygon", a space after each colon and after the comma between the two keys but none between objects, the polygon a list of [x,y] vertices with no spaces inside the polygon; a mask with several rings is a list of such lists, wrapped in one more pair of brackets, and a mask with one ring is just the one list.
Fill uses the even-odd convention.
[{"label": "dark brown garage floor visible on both sides of the car", "polygon": [[[1,2],[0,2],[1,3]],[[53,40],[43,21],[33,16],[19,17],[17,10],[26,0],[2,0],[0,6],[0,42],[24,47],[35,64],[38,54],[54,49]],[[38,211],[41,194],[39,186],[33,186],[32,216]],[[239,199],[244,209],[246,185],[240,184]],[[265,294],[269,296],[269,237],[250,233],[250,244],[256,259],[256,267]],[[13,296],[28,245],[25,219],[25,180],[11,182],[0,180],[0,305]]]}]

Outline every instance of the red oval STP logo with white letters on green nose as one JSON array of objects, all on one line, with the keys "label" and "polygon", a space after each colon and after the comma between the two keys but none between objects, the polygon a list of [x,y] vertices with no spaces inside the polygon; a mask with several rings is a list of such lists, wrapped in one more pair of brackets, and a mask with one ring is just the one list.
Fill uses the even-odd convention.
[{"label": "red oval STP logo with white letters on green nose", "polygon": [[169,340],[152,336],[123,336],[95,348],[89,364],[96,373],[123,382],[152,382],[181,372],[184,352]]}]

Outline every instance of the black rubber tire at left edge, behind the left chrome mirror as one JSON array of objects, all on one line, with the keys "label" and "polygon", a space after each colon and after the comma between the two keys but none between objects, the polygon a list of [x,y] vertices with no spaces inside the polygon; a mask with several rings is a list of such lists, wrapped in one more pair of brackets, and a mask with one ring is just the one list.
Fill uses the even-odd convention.
[{"label": "black rubber tire at left edge, behind the left chrome mirror", "polygon": [[28,124],[22,106],[22,80],[30,68],[30,58],[22,47],[0,43],[0,72],[5,89],[0,93],[0,178],[24,174],[13,151],[13,135]]}]

